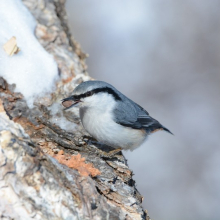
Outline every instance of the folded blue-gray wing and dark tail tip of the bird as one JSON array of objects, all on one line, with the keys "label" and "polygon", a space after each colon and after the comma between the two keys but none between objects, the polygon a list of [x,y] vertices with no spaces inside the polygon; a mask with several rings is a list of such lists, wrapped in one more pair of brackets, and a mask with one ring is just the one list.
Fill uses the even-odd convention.
[{"label": "folded blue-gray wing and dark tail tip of the bird", "polygon": [[120,125],[133,129],[145,129],[147,133],[151,133],[158,129],[170,132],[157,120],[152,118],[145,109],[130,99],[117,103],[114,109],[114,119],[115,122]]}]

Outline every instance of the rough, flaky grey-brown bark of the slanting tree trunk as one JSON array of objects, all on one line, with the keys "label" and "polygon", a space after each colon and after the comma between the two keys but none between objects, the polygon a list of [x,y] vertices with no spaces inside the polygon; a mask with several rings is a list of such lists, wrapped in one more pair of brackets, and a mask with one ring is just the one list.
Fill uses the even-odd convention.
[{"label": "rough, flaky grey-brown bark of the slanting tree trunk", "polygon": [[[77,110],[74,116],[59,105],[59,113],[50,110],[89,78],[86,55],[68,29],[65,1],[23,3],[37,20],[36,37],[54,56],[60,80],[51,97],[29,109],[22,94],[14,92],[15,85],[0,78],[1,219],[149,219],[124,156],[100,156],[100,147],[83,137]],[[60,117],[76,123],[74,132],[52,123]],[[78,153],[101,174],[86,176],[92,171],[71,169],[54,159]]]}]

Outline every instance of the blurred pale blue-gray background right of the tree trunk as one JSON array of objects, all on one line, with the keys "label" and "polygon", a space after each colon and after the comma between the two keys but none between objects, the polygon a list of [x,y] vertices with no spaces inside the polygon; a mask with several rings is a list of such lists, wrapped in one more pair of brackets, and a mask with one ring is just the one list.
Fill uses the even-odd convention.
[{"label": "blurred pale blue-gray background right of the tree trunk", "polygon": [[124,152],[151,218],[220,219],[220,1],[69,0],[66,9],[90,76],[174,133]]}]

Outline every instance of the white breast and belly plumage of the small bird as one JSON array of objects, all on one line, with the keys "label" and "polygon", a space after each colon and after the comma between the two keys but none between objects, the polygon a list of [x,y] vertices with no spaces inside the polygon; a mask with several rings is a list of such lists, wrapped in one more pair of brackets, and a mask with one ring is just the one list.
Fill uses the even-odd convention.
[{"label": "white breast and belly plumage of the small bird", "polygon": [[115,148],[133,150],[146,139],[146,132],[117,124],[113,120],[115,104],[115,100],[109,96],[99,97],[99,103],[96,105],[82,105],[80,108],[82,124],[99,142]]}]

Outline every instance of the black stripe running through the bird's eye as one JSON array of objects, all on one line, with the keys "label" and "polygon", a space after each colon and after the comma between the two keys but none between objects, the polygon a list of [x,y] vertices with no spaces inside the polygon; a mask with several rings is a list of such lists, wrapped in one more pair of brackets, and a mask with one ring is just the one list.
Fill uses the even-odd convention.
[{"label": "black stripe running through the bird's eye", "polygon": [[111,94],[116,101],[121,101],[120,96],[112,88],[109,88],[109,87],[93,89],[93,90],[88,91],[86,93],[83,93],[81,95],[74,95],[73,97],[74,97],[74,99],[79,100],[81,98],[86,98],[86,97],[92,96],[93,94],[97,94],[100,92],[105,92],[105,93]]}]

